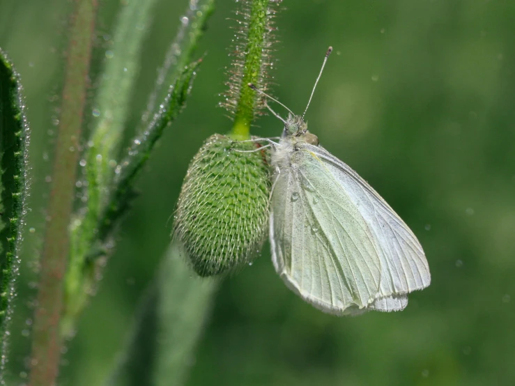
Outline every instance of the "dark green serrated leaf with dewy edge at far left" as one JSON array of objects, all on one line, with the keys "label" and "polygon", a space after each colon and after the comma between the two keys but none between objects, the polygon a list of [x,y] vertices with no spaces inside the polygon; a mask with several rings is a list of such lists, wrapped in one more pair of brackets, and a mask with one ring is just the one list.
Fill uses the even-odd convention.
[{"label": "dark green serrated leaf with dewy edge at far left", "polygon": [[0,49],[0,167],[3,207],[3,229],[0,231],[0,382],[6,364],[8,325],[13,312],[15,279],[20,265],[20,245],[28,191],[28,145],[29,124],[24,113],[20,77],[13,63]]}]

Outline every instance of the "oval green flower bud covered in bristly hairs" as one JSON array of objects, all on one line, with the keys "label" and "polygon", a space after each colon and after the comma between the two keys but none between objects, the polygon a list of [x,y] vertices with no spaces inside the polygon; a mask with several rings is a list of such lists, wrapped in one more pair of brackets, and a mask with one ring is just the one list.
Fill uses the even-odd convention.
[{"label": "oval green flower bud covered in bristly hairs", "polygon": [[270,169],[254,142],[209,137],[187,170],[178,199],[174,237],[200,276],[249,264],[266,240]]}]

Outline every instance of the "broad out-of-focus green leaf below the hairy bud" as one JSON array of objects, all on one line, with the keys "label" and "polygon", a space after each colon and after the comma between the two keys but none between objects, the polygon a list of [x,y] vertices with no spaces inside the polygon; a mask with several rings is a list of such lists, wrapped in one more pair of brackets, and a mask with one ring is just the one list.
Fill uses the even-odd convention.
[{"label": "broad out-of-focus green leaf below the hairy bud", "polygon": [[106,386],[185,383],[219,283],[191,275],[185,253],[180,243],[170,245]]}]

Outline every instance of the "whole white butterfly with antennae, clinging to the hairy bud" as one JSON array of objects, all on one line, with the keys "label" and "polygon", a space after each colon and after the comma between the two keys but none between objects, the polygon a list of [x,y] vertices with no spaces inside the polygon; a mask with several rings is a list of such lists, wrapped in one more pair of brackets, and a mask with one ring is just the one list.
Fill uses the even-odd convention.
[{"label": "whole white butterfly with antennae, clinging to the hairy bud", "polygon": [[275,270],[302,299],[331,314],[404,309],[408,293],[431,282],[420,242],[358,173],[318,145],[303,115],[282,121],[271,155]]}]

